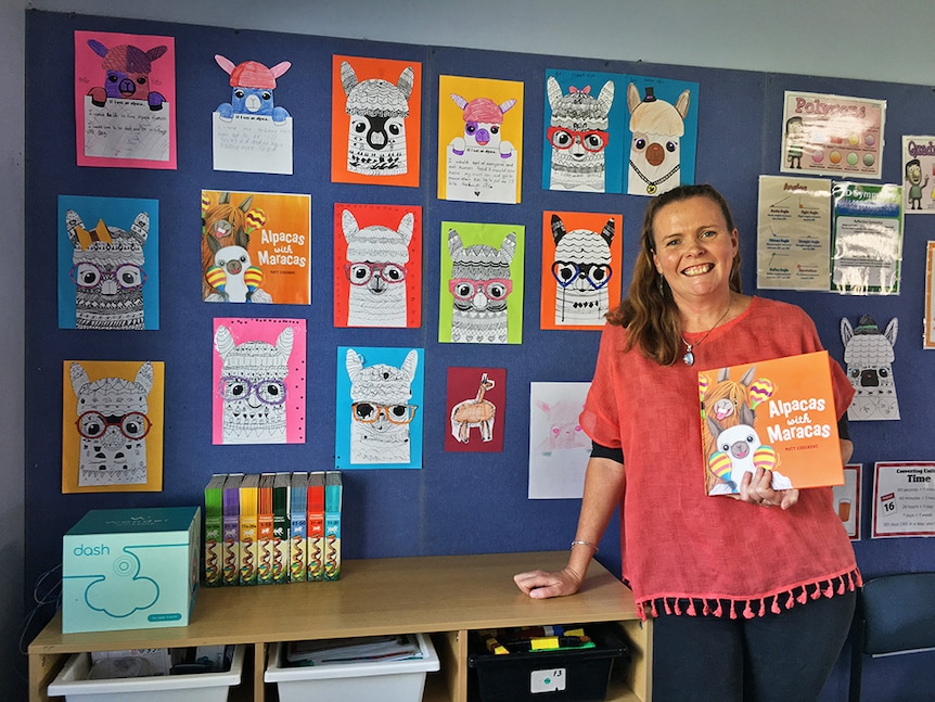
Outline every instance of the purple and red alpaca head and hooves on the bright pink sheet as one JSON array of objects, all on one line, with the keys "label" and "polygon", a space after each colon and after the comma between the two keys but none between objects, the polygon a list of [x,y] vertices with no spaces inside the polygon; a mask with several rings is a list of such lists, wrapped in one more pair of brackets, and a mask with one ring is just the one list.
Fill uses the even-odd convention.
[{"label": "purple and red alpaca head and hooves on the bright pink sheet", "polygon": [[162,93],[150,90],[150,72],[153,62],[166,53],[168,47],[143,51],[124,43],[108,49],[97,39],[88,39],[88,46],[103,59],[101,67],[106,74],[103,87],[94,86],[88,91],[93,104],[103,107],[108,99],[144,100],[150,110],[163,109],[166,99]]}]

